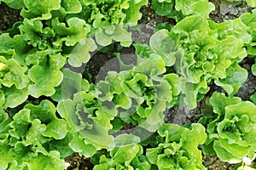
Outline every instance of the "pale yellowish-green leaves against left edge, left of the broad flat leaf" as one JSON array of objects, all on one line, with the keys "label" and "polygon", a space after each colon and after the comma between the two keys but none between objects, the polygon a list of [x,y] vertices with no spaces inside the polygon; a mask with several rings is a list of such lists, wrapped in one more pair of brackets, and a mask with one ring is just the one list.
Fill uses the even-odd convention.
[{"label": "pale yellowish-green leaves against left edge, left of the broad flat leaf", "polygon": [[0,105],[3,108],[14,108],[26,101],[28,85],[31,83],[22,65],[15,59],[15,49],[9,34],[0,37]]}]

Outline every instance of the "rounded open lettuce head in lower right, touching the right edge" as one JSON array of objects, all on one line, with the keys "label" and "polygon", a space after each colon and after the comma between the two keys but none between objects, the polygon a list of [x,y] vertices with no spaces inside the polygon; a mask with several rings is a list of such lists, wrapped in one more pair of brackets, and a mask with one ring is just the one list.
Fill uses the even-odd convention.
[{"label": "rounded open lettuce head in lower right, touching the right edge", "polygon": [[204,152],[230,163],[241,162],[246,156],[253,158],[256,145],[256,106],[240,98],[228,98],[214,93],[201,123],[207,127],[208,138]]}]

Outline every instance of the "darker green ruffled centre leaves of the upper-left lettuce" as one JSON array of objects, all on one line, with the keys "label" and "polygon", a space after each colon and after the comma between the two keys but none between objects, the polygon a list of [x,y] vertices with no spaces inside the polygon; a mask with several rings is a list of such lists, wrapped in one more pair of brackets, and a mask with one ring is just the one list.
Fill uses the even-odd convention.
[{"label": "darker green ruffled centre leaves of the upper-left lettuce", "polygon": [[90,31],[90,26],[84,20],[73,17],[66,24],[58,19],[52,19],[44,27],[41,20],[24,20],[20,26],[21,35],[28,45],[38,47],[40,50],[54,48],[60,51],[65,42],[67,46],[74,46],[83,40]]}]

